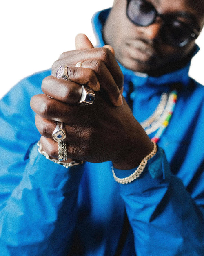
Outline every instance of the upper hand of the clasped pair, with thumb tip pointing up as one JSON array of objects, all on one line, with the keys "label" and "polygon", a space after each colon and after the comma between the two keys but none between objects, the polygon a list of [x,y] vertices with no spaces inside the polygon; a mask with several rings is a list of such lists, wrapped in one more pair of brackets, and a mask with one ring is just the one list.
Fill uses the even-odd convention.
[{"label": "upper hand of the clasped pair, with thumb tip pointing up", "polygon": [[[58,100],[61,100],[56,88],[62,88],[65,95],[71,94],[68,104],[75,104],[81,95],[81,86],[86,84],[93,91],[103,90],[115,106],[122,105],[123,74],[113,55],[111,46],[94,48],[87,36],[79,34],[76,37],[75,51],[64,52],[55,61],[52,67],[52,75],[42,82],[42,91]],[[81,67],[75,67],[82,61]],[[67,73],[70,81],[55,78],[57,69],[67,65]],[[74,92],[74,93],[73,93]],[[74,95],[75,94],[75,95]]]}]

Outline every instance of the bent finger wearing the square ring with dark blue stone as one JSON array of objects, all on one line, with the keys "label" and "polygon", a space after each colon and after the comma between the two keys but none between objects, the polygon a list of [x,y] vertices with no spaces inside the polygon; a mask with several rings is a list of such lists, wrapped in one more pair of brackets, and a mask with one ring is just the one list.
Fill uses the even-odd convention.
[{"label": "bent finger wearing the square ring with dark blue stone", "polygon": [[[95,79],[98,81],[97,78]],[[76,104],[82,95],[80,84],[53,76],[44,78],[41,88],[46,95],[67,104]]]}]

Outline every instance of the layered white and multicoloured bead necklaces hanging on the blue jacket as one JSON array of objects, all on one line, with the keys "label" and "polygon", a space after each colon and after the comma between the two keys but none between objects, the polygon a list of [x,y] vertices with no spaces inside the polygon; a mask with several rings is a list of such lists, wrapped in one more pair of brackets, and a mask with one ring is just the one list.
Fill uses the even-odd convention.
[{"label": "layered white and multicoloured bead necklaces hanging on the blue jacket", "polygon": [[[168,99],[166,99],[167,95],[162,93],[160,103],[158,104],[154,113],[147,120],[141,123],[142,127],[146,131],[146,134],[148,135],[154,131],[157,131],[155,136],[151,139],[151,141],[155,143],[160,140],[160,137],[164,133],[166,127],[169,125],[169,121],[177,102],[177,91],[171,91]],[[158,116],[158,111],[160,116]]]}]

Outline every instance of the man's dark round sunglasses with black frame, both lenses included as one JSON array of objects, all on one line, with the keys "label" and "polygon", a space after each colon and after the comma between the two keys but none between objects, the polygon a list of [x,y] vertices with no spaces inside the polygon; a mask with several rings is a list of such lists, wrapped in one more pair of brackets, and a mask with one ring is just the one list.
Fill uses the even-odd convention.
[{"label": "man's dark round sunglasses with black frame, both lenses included", "polygon": [[196,29],[178,20],[175,15],[159,14],[146,0],[127,0],[126,15],[132,23],[141,27],[153,24],[156,18],[160,17],[163,21],[160,36],[165,43],[173,47],[183,47],[199,35]]}]

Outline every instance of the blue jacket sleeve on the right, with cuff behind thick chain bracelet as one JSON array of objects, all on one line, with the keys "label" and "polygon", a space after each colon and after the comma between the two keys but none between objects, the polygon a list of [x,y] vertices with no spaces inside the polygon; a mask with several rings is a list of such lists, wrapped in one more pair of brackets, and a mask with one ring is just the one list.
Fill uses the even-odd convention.
[{"label": "blue jacket sleeve on the right, with cuff behind thick chain bracelet", "polygon": [[[116,169],[115,174],[124,178],[134,170]],[[119,184],[137,256],[204,255],[204,176],[199,179],[200,196],[195,200],[182,180],[171,173],[159,148],[138,179]]]}]

